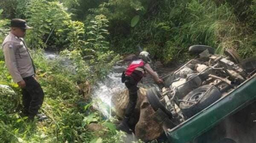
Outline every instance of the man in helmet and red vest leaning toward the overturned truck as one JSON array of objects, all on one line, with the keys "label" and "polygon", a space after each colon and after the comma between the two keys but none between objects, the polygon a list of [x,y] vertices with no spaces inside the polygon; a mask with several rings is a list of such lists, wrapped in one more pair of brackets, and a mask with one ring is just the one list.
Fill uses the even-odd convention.
[{"label": "man in helmet and red vest leaning toward the overturned truck", "polygon": [[156,83],[159,84],[163,82],[148,64],[150,62],[148,55],[149,53],[146,51],[140,52],[140,56],[131,62],[125,73],[122,75],[122,82],[125,83],[125,86],[129,91],[129,103],[128,107],[125,109],[125,117],[117,126],[117,129],[127,133],[131,133],[131,129],[128,127],[128,121],[137,104],[137,90],[139,89],[137,87],[138,82],[143,78],[145,73],[149,73]]}]

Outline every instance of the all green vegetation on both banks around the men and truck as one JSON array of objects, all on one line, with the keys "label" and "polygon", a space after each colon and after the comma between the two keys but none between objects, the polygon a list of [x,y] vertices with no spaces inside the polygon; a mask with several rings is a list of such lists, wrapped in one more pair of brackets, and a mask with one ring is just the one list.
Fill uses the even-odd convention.
[{"label": "all green vegetation on both banks around the men and truck", "polygon": [[[163,63],[184,62],[195,44],[256,55],[256,0],[0,0],[0,44],[12,18],[33,27],[26,42],[46,94],[42,112],[50,119],[28,123],[20,117],[20,89],[0,50],[0,84],[11,87],[0,87],[3,143],[117,142],[120,133],[92,110],[78,84],[104,78],[118,54],[137,53],[138,44]],[[62,58],[47,60],[45,49]],[[91,122],[105,126],[104,135],[90,132]]]}]

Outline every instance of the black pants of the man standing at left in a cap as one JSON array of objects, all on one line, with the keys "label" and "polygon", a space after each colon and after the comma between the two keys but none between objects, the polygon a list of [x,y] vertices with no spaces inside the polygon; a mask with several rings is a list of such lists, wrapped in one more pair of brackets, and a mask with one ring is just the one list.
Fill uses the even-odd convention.
[{"label": "black pants of the man standing at left in a cap", "polygon": [[26,87],[22,89],[23,113],[34,117],[43,104],[44,92],[34,77],[31,76],[23,80],[26,83]]}]

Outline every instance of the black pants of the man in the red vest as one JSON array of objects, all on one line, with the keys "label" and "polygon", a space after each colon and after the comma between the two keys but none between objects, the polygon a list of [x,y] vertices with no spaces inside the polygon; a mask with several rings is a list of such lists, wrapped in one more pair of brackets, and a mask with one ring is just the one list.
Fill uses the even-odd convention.
[{"label": "black pants of the man in the red vest", "polygon": [[138,87],[137,87],[138,82],[135,81],[133,78],[131,77],[126,77],[125,79],[125,86],[128,88],[129,91],[129,103],[128,103],[128,107],[125,109],[125,116],[130,118],[131,114],[134,112],[135,106],[137,104],[137,91],[138,91]]}]

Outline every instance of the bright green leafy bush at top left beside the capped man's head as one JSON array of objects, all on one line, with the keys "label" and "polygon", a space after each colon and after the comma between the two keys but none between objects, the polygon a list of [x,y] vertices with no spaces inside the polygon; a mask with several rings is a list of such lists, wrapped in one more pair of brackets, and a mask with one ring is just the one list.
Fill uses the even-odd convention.
[{"label": "bright green leafy bush at top left beside the capped man's head", "polygon": [[53,50],[79,47],[84,24],[72,21],[66,10],[59,2],[30,0],[26,17],[33,30],[27,34],[28,44],[33,48],[47,47]]}]

